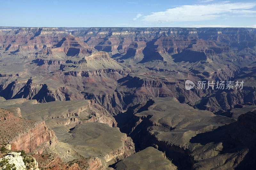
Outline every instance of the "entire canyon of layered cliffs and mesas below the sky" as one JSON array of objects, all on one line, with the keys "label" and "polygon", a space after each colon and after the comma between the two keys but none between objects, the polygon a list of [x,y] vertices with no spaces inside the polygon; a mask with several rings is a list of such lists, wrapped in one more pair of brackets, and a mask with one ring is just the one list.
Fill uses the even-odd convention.
[{"label": "entire canyon of layered cliffs and mesas below the sky", "polygon": [[255,28],[2,26],[0,145],[56,170],[255,166],[255,63]]}]

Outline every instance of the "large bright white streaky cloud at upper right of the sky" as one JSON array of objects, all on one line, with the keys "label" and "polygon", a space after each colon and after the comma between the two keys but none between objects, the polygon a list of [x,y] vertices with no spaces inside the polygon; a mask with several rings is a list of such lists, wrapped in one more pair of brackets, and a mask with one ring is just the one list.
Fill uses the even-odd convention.
[{"label": "large bright white streaky cloud at upper right of the sky", "polygon": [[[144,16],[143,21],[152,23],[164,23],[173,21],[203,21],[213,20],[220,17],[247,16],[255,14],[252,9],[256,6],[252,3],[216,3],[200,5],[183,5],[176,8],[167,9],[161,12],[152,12]],[[137,18],[136,18],[137,19]],[[136,20],[135,19],[135,20]]]}]

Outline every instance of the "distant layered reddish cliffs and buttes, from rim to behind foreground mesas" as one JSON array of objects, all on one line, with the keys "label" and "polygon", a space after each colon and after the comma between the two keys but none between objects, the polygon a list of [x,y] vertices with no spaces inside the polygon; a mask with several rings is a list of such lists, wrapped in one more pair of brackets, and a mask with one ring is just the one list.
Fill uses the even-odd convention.
[{"label": "distant layered reddish cliffs and buttes, from rim to behind foreground mesas", "polygon": [[[214,95],[221,105],[225,94],[187,92],[184,81],[236,78],[256,56],[252,28],[1,27],[0,40],[0,95],[5,99],[92,99],[113,115],[153,97],[174,96],[194,105]],[[250,88],[230,94],[239,100],[227,97],[225,106],[206,108],[206,102],[198,108],[227,110],[252,95]]]}]

